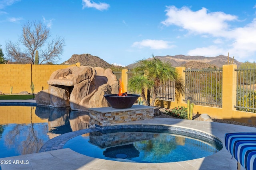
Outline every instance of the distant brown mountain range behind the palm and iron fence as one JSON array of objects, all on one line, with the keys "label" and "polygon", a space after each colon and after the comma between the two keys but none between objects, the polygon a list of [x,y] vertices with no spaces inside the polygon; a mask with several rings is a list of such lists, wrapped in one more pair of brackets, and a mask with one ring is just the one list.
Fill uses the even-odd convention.
[{"label": "distant brown mountain range behind the palm and iron fence", "polygon": [[[224,64],[228,64],[228,56],[219,55],[217,57],[204,57],[204,56],[189,56],[189,55],[175,55],[175,56],[155,56],[156,59],[162,61],[170,61],[172,66],[186,66],[186,68],[209,68],[209,67],[222,67]],[[147,60],[151,60],[149,58]],[[233,59],[229,57],[229,63],[232,63]],[[238,67],[241,62],[234,59],[233,64],[236,64]],[[133,68],[135,64],[130,64],[127,67]]]}]

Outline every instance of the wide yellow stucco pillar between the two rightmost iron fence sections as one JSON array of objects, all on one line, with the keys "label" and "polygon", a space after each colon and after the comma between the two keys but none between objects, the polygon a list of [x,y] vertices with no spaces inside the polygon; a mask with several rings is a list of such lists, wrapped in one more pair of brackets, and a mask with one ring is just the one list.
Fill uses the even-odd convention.
[{"label": "wide yellow stucco pillar between the two rightmost iron fence sections", "polygon": [[236,110],[234,105],[236,105],[236,64],[223,65],[222,73],[222,115],[227,114]]}]

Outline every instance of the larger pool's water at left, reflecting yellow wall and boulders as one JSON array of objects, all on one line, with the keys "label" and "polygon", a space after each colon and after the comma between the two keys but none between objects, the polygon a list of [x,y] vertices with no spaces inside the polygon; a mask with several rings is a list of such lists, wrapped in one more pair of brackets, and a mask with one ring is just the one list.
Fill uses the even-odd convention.
[{"label": "larger pool's water at left, reflecting yellow wall and boulders", "polygon": [[49,139],[88,126],[89,113],[70,107],[0,106],[0,158],[39,152]]}]

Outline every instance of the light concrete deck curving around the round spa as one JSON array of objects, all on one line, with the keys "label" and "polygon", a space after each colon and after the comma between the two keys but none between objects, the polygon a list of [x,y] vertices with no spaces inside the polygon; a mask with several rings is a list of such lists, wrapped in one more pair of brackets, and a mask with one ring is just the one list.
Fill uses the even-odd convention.
[{"label": "light concrete deck curving around the round spa", "polygon": [[[195,129],[218,137],[224,145],[224,134],[234,132],[255,132],[255,127],[225,123],[194,121],[184,119],[154,118],[122,124],[166,125]],[[85,130],[85,129],[84,129]],[[83,131],[83,130],[81,130]],[[78,133],[71,132],[71,133]],[[61,138],[60,138],[61,139]],[[51,148],[62,148],[62,141],[49,144]],[[48,147],[48,148],[49,148]],[[7,164],[10,163],[10,164]],[[236,170],[236,160],[225,146],[219,152],[204,158],[168,163],[133,163],[92,158],[71,149],[58,149],[47,152],[0,158],[2,170]],[[241,167],[241,170],[244,170]]]}]

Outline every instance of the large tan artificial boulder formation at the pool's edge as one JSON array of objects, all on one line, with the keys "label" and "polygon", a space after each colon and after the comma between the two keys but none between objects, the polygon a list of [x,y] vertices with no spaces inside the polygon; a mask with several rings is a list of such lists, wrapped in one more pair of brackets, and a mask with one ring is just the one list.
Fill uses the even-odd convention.
[{"label": "large tan artificial boulder formation at the pool's edge", "polygon": [[117,94],[118,81],[111,69],[72,66],[54,71],[48,80],[48,90],[36,95],[38,105],[67,107],[85,111],[108,107],[104,94]]}]

